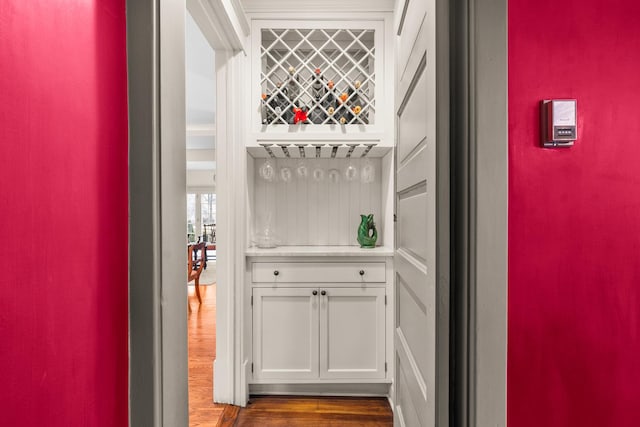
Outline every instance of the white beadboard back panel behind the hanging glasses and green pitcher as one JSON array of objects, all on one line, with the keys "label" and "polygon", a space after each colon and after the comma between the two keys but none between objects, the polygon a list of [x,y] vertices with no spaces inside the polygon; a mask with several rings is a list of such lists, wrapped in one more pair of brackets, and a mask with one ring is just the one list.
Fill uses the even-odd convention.
[{"label": "white beadboard back panel behind the hanging glasses and green pitcher", "polygon": [[[255,193],[252,216],[257,232],[270,218],[281,245],[358,245],[357,232],[360,215],[374,215],[378,228],[378,242],[383,242],[382,185],[380,158],[354,159],[269,159],[276,169],[276,179],[268,182],[260,177],[260,167],[267,159],[256,159],[254,165]],[[303,161],[308,169],[306,180],[298,178],[296,168]],[[375,170],[371,183],[363,183],[358,176],[345,178],[349,163],[358,169],[370,162]],[[291,182],[280,178],[280,170],[288,167]],[[313,178],[315,169],[324,172],[324,179]],[[330,179],[330,170],[339,172],[338,181]]]}]

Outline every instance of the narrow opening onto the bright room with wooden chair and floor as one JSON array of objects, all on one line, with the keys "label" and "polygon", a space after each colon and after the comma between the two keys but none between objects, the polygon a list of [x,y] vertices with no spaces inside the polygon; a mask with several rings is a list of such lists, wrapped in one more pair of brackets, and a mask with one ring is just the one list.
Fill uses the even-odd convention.
[{"label": "narrow opening onto the bright room with wooden chair and floor", "polygon": [[[215,422],[216,357],[216,79],[215,51],[189,11],[185,20],[186,240],[194,280],[188,284],[189,425]],[[199,251],[198,248],[202,248]],[[195,253],[193,251],[195,250]],[[201,268],[199,268],[201,267]]]}]

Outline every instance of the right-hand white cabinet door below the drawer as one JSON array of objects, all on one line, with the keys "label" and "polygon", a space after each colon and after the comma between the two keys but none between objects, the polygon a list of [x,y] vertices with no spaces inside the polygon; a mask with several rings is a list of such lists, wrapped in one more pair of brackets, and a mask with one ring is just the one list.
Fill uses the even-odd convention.
[{"label": "right-hand white cabinet door below the drawer", "polygon": [[321,288],[322,292],[320,378],[384,378],[384,288]]}]

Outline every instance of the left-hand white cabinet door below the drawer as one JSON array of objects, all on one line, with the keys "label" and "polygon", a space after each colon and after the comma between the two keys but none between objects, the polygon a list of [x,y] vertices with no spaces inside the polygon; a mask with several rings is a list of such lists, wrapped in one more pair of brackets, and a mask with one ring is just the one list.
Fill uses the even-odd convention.
[{"label": "left-hand white cabinet door below the drawer", "polygon": [[253,289],[255,379],[318,378],[318,296],[310,288]]}]

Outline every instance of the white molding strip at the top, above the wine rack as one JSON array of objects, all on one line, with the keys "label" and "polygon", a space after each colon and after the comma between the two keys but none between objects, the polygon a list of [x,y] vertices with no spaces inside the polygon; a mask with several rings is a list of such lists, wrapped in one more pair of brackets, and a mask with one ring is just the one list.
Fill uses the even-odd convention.
[{"label": "white molding strip at the top, above the wine rack", "polygon": [[265,12],[393,12],[395,0],[322,0],[300,3],[294,0],[240,0],[246,13]]}]

